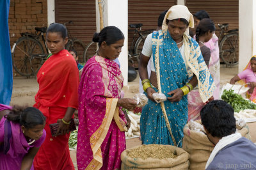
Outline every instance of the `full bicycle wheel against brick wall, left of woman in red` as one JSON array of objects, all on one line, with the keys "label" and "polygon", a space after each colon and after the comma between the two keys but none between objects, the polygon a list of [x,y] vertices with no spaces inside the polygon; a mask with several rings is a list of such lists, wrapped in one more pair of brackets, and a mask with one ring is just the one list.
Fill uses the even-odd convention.
[{"label": "full bicycle wheel against brick wall, left of woman in red", "polygon": [[44,63],[45,55],[42,44],[38,40],[28,36],[19,38],[12,51],[13,68],[23,76],[35,75]]}]

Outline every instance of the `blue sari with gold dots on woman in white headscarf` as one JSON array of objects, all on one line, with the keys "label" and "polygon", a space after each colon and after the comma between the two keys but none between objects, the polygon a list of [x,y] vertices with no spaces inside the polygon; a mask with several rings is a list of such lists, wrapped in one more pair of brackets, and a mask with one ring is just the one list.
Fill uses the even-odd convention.
[{"label": "blue sari with gold dots on woman in white headscarf", "polygon": [[[154,42],[154,39],[161,41],[159,41],[157,44]],[[187,39],[189,47],[193,47],[193,49],[198,50],[198,43],[192,39],[193,38],[190,38],[189,40]],[[200,54],[200,48],[199,53],[198,51],[193,51],[193,49],[191,49],[190,55],[195,54],[191,56],[192,58],[197,58],[195,68],[198,70],[197,75],[200,79],[199,81],[205,81],[205,77],[207,78],[208,84],[205,88],[210,89],[209,95],[211,95],[211,90],[214,88],[211,87],[214,86],[213,80],[211,81],[212,78],[208,73],[209,70],[207,70],[207,66],[205,63],[202,63],[204,62],[204,58],[202,57],[202,54]],[[159,56],[158,70],[161,93],[164,93],[166,97],[170,97],[170,95],[167,94],[168,92],[181,88],[193,77],[193,72],[191,72],[190,68],[188,68],[188,70],[186,69],[184,59],[180,54],[177,44],[172,39],[168,31],[166,31],[165,35],[161,33],[161,31],[154,32],[152,34],[152,54],[156,70],[156,56]],[[199,84],[202,83],[200,82]],[[203,85],[205,86],[205,84]],[[154,89],[158,91],[158,89]],[[182,97],[179,102],[169,102],[166,100],[164,102],[164,109],[166,111],[166,116],[168,117],[170,129],[172,130],[172,135],[175,141],[173,142],[172,135],[170,135],[170,132],[166,127],[166,121],[164,120],[163,108],[161,108],[161,104],[157,104],[152,100],[148,100],[148,104],[143,107],[141,113],[141,141],[143,144],[177,144],[177,146],[182,147],[182,138],[184,136],[183,128],[188,120],[188,96],[186,95]]]}]

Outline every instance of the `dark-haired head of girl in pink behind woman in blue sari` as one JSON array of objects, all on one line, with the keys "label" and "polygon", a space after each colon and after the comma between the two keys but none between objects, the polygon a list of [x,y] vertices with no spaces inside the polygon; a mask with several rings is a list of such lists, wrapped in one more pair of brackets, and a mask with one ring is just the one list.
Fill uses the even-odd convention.
[{"label": "dark-haired head of girl in pink behind woman in blue sari", "polygon": [[215,26],[211,19],[200,20],[198,26],[196,27],[196,42],[199,41],[200,36],[205,36],[205,42],[208,42],[211,40],[214,31]]}]

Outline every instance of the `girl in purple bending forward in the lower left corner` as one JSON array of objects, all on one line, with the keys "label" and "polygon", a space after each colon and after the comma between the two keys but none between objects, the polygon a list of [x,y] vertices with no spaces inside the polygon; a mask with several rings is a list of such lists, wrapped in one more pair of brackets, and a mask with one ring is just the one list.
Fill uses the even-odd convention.
[{"label": "girl in purple bending forward in the lower left corner", "polygon": [[33,159],[45,140],[45,116],[34,107],[2,104],[0,114],[0,169],[34,169]]}]

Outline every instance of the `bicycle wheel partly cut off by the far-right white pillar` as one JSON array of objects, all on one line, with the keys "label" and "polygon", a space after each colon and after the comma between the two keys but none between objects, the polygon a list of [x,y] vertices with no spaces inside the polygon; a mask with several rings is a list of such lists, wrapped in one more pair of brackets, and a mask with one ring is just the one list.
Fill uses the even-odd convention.
[{"label": "bicycle wheel partly cut off by the far-right white pillar", "polygon": [[220,57],[228,66],[238,64],[238,33],[225,35],[220,42]]}]

